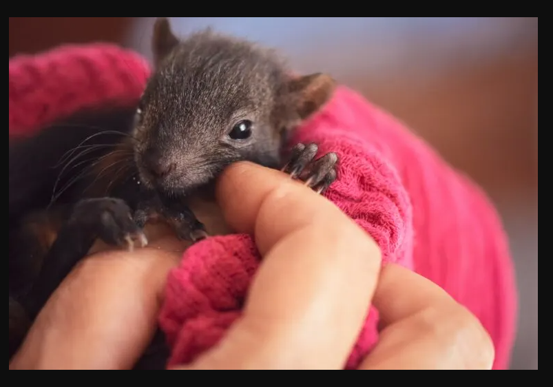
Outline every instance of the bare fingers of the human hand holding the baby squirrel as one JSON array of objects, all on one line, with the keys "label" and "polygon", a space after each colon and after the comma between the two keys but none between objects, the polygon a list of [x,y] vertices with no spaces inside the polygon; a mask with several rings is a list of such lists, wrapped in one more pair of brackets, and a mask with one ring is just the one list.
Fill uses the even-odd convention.
[{"label": "bare fingers of the human hand holding the baby squirrel", "polygon": [[[419,275],[381,268],[377,244],[324,197],[279,171],[237,163],[222,174],[217,198],[229,226],[255,236],[263,261],[240,320],[177,369],[341,369],[371,302],[381,337],[360,369],[492,368],[478,320]],[[144,249],[83,260],[9,368],[132,368],[184,249],[167,231],[149,238]]]}]

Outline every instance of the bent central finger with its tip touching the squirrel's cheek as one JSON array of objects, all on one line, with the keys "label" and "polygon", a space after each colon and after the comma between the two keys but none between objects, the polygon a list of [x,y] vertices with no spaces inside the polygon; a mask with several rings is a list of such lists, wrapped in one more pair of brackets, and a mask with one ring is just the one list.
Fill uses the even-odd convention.
[{"label": "bent central finger with its tip touching the squirrel's cheek", "polygon": [[217,196],[229,225],[253,233],[264,257],[243,317],[207,357],[210,367],[342,368],[377,282],[377,244],[279,171],[232,165]]}]

